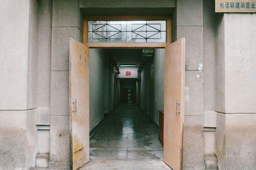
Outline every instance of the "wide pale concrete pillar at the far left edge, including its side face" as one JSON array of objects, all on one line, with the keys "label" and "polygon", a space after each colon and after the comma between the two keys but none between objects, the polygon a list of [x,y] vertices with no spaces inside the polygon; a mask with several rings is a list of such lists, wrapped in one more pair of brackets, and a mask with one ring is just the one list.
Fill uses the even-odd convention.
[{"label": "wide pale concrete pillar at the far left edge, including its side face", "polygon": [[35,167],[38,152],[36,124],[40,118],[36,115],[40,103],[38,87],[42,82],[38,81],[38,53],[42,40],[39,16],[44,5],[41,1],[1,3],[1,23],[4,25],[0,31],[3,56],[0,169],[30,169]]}]

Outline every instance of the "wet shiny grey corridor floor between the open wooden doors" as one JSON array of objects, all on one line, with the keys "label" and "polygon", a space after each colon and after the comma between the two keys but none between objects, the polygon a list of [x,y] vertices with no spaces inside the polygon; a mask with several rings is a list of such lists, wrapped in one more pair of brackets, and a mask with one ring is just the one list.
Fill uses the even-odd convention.
[{"label": "wet shiny grey corridor floor between the open wooden doors", "polygon": [[158,130],[135,104],[120,104],[90,141],[82,169],[170,169],[163,162]]}]

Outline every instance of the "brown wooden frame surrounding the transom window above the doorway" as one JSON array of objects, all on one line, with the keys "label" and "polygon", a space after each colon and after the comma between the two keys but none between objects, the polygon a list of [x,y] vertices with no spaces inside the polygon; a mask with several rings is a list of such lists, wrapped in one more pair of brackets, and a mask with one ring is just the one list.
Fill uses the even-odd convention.
[{"label": "brown wooden frame surrounding the transom window above the doorway", "polygon": [[[165,43],[111,43],[111,42],[88,42],[88,20],[166,20]],[[170,16],[148,15],[86,15],[83,20],[83,43],[89,48],[164,48],[172,43],[172,20]],[[182,135],[183,136],[183,135]],[[182,138],[183,143],[183,138]],[[182,147],[182,151],[183,151]],[[181,164],[182,164],[181,158]],[[182,168],[181,168],[182,169]]]}]

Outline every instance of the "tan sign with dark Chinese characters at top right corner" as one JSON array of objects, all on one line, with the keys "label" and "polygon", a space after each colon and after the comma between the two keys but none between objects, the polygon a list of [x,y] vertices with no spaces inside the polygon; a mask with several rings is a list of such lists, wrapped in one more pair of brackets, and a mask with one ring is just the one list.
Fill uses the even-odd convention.
[{"label": "tan sign with dark Chinese characters at top right corner", "polygon": [[256,0],[215,0],[215,12],[256,13]]}]

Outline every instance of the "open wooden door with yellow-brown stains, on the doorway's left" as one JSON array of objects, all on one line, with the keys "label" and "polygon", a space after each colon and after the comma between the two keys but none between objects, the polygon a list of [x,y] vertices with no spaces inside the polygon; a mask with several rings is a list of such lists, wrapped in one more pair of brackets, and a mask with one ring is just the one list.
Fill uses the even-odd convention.
[{"label": "open wooden door with yellow-brown stains, on the doorway's left", "polygon": [[72,169],[79,169],[89,161],[89,48],[72,38],[69,48]]}]

